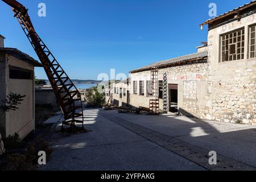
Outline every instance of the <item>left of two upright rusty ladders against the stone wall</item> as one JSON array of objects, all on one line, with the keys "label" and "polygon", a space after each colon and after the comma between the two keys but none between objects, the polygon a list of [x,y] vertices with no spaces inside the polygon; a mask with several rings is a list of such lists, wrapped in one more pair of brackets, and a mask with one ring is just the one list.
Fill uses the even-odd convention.
[{"label": "left of two upright rusty ladders against the stone wall", "polygon": [[159,81],[158,81],[158,68],[151,68],[151,94],[149,103],[149,113],[159,114]]}]

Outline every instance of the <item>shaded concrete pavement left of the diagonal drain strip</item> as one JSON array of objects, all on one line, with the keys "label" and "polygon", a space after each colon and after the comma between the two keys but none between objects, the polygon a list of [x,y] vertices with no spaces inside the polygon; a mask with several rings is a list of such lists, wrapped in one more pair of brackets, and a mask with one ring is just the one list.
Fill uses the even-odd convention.
[{"label": "shaded concrete pavement left of the diagonal drain strip", "polygon": [[40,170],[204,170],[203,167],[102,117],[85,111],[89,133],[58,137]]}]

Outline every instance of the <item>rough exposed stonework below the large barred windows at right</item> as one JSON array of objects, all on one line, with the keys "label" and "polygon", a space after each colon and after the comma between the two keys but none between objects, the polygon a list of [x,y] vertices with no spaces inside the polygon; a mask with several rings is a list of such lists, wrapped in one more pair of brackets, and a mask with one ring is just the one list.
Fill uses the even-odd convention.
[{"label": "rough exposed stonework below the large barred windows at right", "polygon": [[256,61],[225,63],[212,78],[212,113],[217,121],[253,123],[256,119]]}]

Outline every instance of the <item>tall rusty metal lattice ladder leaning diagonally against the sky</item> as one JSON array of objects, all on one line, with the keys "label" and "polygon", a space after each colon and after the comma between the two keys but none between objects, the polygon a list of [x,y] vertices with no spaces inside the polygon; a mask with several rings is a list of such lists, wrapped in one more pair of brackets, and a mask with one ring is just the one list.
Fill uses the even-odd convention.
[{"label": "tall rusty metal lattice ladder leaning diagonally against the sky", "polygon": [[75,123],[82,123],[82,129],[84,129],[84,114],[79,90],[69,79],[67,73],[65,73],[43,40],[36,34],[27,10],[18,11],[13,8],[13,11],[22,30],[43,64],[44,71],[46,71],[46,75],[59,102],[65,119],[62,123],[62,129],[64,129],[63,125],[69,125],[72,128],[75,126]]}]

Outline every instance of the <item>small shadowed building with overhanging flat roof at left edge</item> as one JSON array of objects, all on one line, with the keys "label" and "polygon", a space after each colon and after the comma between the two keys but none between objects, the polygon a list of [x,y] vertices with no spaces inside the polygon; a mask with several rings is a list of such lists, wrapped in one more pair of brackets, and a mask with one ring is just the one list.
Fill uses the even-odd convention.
[{"label": "small shadowed building with overhanging flat roof at left edge", "polygon": [[2,137],[18,133],[23,139],[35,129],[34,67],[42,65],[18,49],[5,48],[4,39],[0,35],[0,102],[11,92],[26,97],[18,110],[0,113],[0,133]]}]

